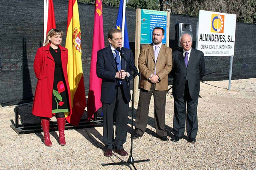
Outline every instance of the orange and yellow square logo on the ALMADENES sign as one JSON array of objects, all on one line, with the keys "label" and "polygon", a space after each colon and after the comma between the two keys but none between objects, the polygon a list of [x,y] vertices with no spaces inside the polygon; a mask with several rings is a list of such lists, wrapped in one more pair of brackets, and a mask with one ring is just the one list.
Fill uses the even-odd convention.
[{"label": "orange and yellow square logo on the ALMADENES sign", "polygon": [[224,17],[224,15],[212,14],[212,33],[224,33]]}]

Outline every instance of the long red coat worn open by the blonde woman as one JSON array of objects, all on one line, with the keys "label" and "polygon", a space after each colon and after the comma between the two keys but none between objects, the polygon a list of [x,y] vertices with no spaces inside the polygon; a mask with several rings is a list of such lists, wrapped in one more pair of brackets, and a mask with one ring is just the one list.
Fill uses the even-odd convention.
[{"label": "long red coat worn open by the blonde woman", "polygon": [[[68,49],[59,45],[60,56],[62,62],[62,70],[66,82],[68,92],[68,102],[70,107],[70,114],[72,113],[70,88],[68,84]],[[54,80],[54,59],[50,53],[50,44],[46,47],[38,48],[34,60],[34,71],[38,79],[36,84],[36,92],[34,95],[34,103],[32,107],[32,114],[40,117],[53,117],[52,114],[52,90]]]}]

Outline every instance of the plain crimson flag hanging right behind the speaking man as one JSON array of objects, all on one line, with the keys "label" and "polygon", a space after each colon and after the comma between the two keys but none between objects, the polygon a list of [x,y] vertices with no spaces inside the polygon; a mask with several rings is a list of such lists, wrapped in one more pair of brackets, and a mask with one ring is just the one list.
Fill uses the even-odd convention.
[{"label": "plain crimson flag hanging right behind the speaking man", "polygon": [[102,107],[100,102],[101,82],[102,79],[96,75],[96,62],[97,52],[103,49],[104,45],[104,33],[103,33],[103,18],[102,18],[102,1],[96,0],[94,10],[94,30],[92,39],[92,59],[90,67],[90,83],[88,94],[88,120],[94,118],[94,113]]}]

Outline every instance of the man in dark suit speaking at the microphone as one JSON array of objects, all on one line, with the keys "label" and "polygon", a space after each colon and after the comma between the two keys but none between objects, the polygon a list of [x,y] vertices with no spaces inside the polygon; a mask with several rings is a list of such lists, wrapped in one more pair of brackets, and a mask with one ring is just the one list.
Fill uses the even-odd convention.
[{"label": "man in dark suit speaking at the microphone", "polygon": [[[96,73],[102,78],[101,102],[103,109],[103,139],[106,144],[104,156],[112,156],[112,150],[127,156],[123,144],[126,141],[128,107],[130,102],[130,66],[121,58],[117,47],[122,49],[126,60],[134,67],[134,57],[130,49],[122,47],[122,33],[118,29],[108,31],[110,46],[97,54]],[[114,114],[115,111],[115,114]],[[113,116],[116,117],[116,138],[114,139]]]}]

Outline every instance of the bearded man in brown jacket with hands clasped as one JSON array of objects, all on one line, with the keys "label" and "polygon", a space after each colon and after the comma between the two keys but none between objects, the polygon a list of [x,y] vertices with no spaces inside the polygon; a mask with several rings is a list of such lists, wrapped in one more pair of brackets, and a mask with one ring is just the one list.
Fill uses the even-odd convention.
[{"label": "bearded man in brown jacket with hands clasped", "polygon": [[168,74],[172,70],[172,49],[162,44],[164,29],[155,27],[153,43],[140,49],[138,67],[141,72],[140,98],[136,115],[134,139],[141,137],[148,123],[148,110],[154,94],[156,133],[162,141],[169,141],[165,129],[165,103],[168,89]]}]

